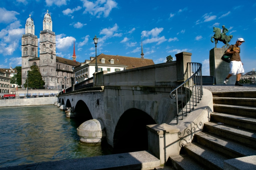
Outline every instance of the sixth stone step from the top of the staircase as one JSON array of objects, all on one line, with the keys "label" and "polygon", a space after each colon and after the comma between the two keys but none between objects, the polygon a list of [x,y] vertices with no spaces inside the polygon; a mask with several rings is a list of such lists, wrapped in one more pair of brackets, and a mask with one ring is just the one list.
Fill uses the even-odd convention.
[{"label": "sixth stone step from the top of the staircase", "polygon": [[256,155],[256,149],[208,132],[198,132],[194,141],[232,158]]}]

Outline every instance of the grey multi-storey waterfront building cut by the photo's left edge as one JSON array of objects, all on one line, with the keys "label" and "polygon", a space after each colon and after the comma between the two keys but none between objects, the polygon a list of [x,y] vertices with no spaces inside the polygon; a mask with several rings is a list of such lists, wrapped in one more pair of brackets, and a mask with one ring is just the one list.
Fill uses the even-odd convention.
[{"label": "grey multi-storey waterfront building cut by the photo's left edge", "polygon": [[0,68],[0,99],[10,91],[10,72],[5,68]]}]

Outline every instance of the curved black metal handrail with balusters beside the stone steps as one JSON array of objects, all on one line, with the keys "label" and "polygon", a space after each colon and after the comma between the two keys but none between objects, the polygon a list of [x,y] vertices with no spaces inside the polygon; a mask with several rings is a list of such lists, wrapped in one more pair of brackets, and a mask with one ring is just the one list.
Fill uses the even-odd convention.
[{"label": "curved black metal handrail with balusters beside the stone steps", "polygon": [[[190,113],[191,110],[194,110],[194,106],[197,106],[197,103],[200,102],[203,96],[202,64],[188,62],[187,69],[184,73],[184,80],[185,81],[181,85],[179,85],[173,91],[170,92],[170,98],[172,99],[176,98],[177,125],[179,123],[179,112],[181,112],[181,116],[182,116],[181,120],[183,120],[183,115],[184,115],[183,112],[186,112],[186,116],[187,116],[187,113],[188,112]],[[183,87],[185,88],[185,96],[183,95],[183,91],[182,91]],[[180,101],[178,100],[179,89],[180,89],[180,96],[181,96]],[[175,91],[175,94],[172,94],[174,91]],[[185,101],[183,102],[183,100]],[[191,105],[192,105],[192,108],[191,108]]]}]

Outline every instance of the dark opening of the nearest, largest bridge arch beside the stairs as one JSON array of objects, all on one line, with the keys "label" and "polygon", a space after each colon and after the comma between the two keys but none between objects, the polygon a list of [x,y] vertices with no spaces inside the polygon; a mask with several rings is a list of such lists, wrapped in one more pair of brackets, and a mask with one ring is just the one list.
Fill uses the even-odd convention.
[{"label": "dark opening of the nearest, largest bridge arch beside the stairs", "polygon": [[148,150],[146,125],[156,124],[146,112],[133,108],[125,111],[115,128],[113,137],[114,153]]}]

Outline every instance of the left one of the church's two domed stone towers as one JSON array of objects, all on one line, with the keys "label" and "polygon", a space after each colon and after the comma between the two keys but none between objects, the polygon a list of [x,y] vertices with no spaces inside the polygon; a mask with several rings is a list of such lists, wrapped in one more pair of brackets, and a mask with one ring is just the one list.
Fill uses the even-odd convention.
[{"label": "left one of the church's two domed stone towers", "polygon": [[[29,15],[25,25],[25,34],[21,38],[21,60],[22,60],[22,82],[23,85],[27,78],[27,71],[30,70],[29,60],[38,56],[38,38],[35,36],[34,21]],[[36,63],[36,62],[34,62]],[[24,87],[24,86],[23,86]]]}]

